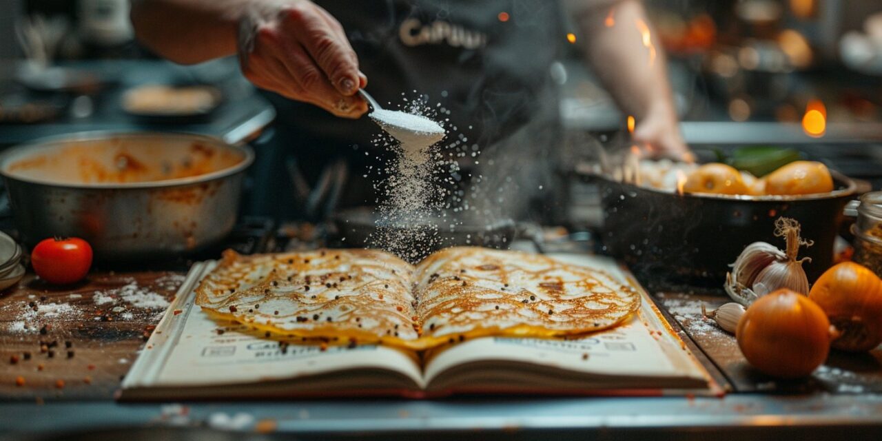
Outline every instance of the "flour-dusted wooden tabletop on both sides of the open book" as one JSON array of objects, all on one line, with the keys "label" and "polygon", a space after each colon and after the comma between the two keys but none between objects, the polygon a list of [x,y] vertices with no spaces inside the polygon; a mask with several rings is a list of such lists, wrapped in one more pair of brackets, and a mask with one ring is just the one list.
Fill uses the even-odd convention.
[{"label": "flour-dusted wooden tabletop on both sides of the open book", "polygon": [[[111,400],[183,278],[174,271],[101,272],[55,288],[29,273],[0,294],[0,399]],[[832,351],[810,378],[775,381],[746,363],[733,336],[701,318],[701,303],[713,310],[725,297],[655,298],[732,392],[882,392],[880,348]]]}]

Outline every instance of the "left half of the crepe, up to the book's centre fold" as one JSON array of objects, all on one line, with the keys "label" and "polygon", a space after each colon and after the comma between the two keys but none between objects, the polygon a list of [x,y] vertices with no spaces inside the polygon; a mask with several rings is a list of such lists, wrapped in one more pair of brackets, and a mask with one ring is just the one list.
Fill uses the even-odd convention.
[{"label": "left half of the crepe, up to the book's centre fold", "polygon": [[196,291],[215,316],[296,337],[416,340],[414,267],[378,250],[223,258]]}]

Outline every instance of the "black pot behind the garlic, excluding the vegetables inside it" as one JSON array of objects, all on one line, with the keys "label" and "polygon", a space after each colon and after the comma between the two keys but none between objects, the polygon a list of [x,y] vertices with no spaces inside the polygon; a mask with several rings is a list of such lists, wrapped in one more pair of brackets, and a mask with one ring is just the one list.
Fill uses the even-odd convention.
[{"label": "black pot behind the garlic, excluding the vegetables inside it", "polygon": [[594,176],[603,207],[602,246],[654,290],[722,288],[729,264],[750,243],[784,248],[774,221],[796,219],[814,241],[799,257],[810,282],[833,264],[842,210],[856,183],[833,173],[835,190],[806,196],[676,194]]}]

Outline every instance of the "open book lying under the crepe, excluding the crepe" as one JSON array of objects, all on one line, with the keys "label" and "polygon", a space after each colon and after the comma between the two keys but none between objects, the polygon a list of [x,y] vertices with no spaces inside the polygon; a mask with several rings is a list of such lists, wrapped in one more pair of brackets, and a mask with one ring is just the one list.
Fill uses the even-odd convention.
[{"label": "open book lying under the crepe, excluding the crepe", "polygon": [[616,327],[576,338],[477,337],[417,351],[383,344],[317,346],[212,318],[195,289],[214,262],[193,266],[123,381],[120,400],[451,393],[716,393],[639,285],[608,258],[554,256],[600,269],[641,297]]}]

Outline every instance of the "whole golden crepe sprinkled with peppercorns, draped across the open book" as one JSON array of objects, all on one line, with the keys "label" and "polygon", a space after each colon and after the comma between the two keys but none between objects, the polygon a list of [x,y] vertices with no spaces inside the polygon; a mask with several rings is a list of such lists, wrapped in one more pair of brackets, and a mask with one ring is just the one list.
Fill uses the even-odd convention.
[{"label": "whole golden crepe sprinkled with peppercorns, draped across the open book", "polygon": [[282,336],[425,349],[602,330],[637,310],[639,295],[602,271],[518,251],[454,247],[416,268],[379,250],[226,251],[197,303]]}]

